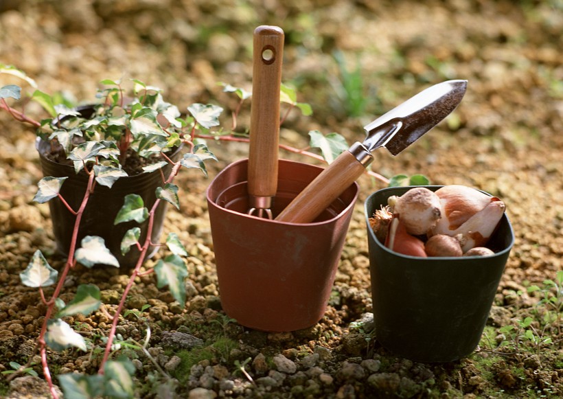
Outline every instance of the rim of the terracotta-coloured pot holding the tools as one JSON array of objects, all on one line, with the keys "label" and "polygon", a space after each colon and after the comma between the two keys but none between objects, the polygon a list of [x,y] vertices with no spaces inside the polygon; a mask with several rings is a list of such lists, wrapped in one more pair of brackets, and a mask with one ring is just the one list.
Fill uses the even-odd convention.
[{"label": "rim of the terracotta-coloured pot holding the tools", "polygon": [[[224,168],[223,170],[221,170],[216,176],[215,179],[218,179],[220,176],[222,176],[223,174],[227,174],[229,172],[229,169],[231,168],[235,168],[235,166],[238,166],[240,163],[244,163],[244,162],[248,162],[249,159],[248,158],[244,158],[244,159],[239,159],[238,161],[234,161],[233,163],[230,163],[226,168]],[[311,167],[311,168],[319,168],[319,169],[323,169],[320,166],[315,166],[315,165],[311,165],[310,163],[304,163],[304,162],[299,162],[299,161],[291,161],[290,159],[279,159],[278,163],[297,163],[299,165],[302,166],[306,166],[306,167]],[[214,179],[214,181],[215,181]],[[222,207],[220,205],[218,205],[216,203],[217,198],[220,196],[220,194],[222,194],[222,192],[225,192],[225,190],[229,190],[229,188],[233,187],[236,184],[240,184],[240,183],[245,183],[246,181],[239,181],[236,182],[233,185],[230,185],[229,187],[225,188],[225,190],[222,190],[222,192],[220,192],[216,198],[211,198],[210,196],[210,191],[211,191],[211,185],[213,185],[214,181],[211,181],[211,183],[207,186],[207,190],[205,190],[205,196],[207,198],[207,201],[209,201],[209,203],[211,203],[211,205],[213,207],[216,207],[217,209],[221,209],[224,212],[229,212],[230,214],[233,215],[238,215],[238,216],[246,216],[248,218],[253,218],[256,220],[260,220],[262,223],[275,223],[277,225],[286,225],[286,226],[319,226],[319,225],[328,225],[330,223],[334,223],[335,220],[337,220],[338,218],[341,218],[343,216],[343,214],[345,214],[346,212],[349,211],[350,207],[354,207],[356,204],[356,201],[358,200],[358,195],[360,194],[360,186],[358,185],[358,183],[356,181],[354,181],[354,183],[352,185],[350,185],[349,187],[354,187],[355,193],[354,193],[354,198],[352,199],[352,201],[349,201],[349,203],[344,207],[344,209],[339,212],[336,216],[327,219],[327,220],[321,220],[320,222],[312,222],[312,223],[292,223],[292,222],[281,222],[279,220],[270,220],[270,219],[266,219],[266,218],[260,218],[258,216],[253,216],[253,215],[248,215],[248,214],[242,214],[240,212],[236,212],[233,211],[232,209],[227,209],[225,207]],[[344,191],[348,190],[349,187],[346,187]]]}]

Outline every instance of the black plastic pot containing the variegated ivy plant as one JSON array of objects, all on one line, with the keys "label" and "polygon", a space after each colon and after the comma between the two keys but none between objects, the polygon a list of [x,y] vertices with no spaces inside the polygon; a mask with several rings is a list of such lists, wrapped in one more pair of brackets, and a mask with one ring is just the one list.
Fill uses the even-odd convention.
[{"label": "black plastic pot containing the variegated ivy plant", "polygon": [[[86,192],[88,177],[84,171],[75,173],[74,168],[69,165],[63,165],[47,159],[45,153],[49,150],[49,142],[38,139],[36,148],[41,159],[41,168],[44,176],[64,177],[68,179],[62,184],[60,194],[65,198],[72,209],[78,210],[84,192]],[[181,149],[178,148],[170,156],[172,159],[178,159]],[[163,167],[165,176],[170,175],[172,166],[170,163]],[[89,201],[80,222],[78,231],[77,245],[80,247],[80,241],[84,236],[100,236],[104,239],[106,247],[119,261],[119,266],[130,268],[137,264],[139,259],[139,250],[135,246],[130,247],[130,251],[126,255],[122,255],[120,244],[124,234],[128,229],[139,227],[141,229],[141,237],[139,242],[143,243],[147,236],[148,220],[139,224],[134,221],[119,223],[114,225],[113,221],[117,212],[124,204],[124,198],[127,194],[137,194],[143,198],[145,207],[151,209],[157,200],[156,189],[163,184],[161,172],[158,170],[150,173],[137,174],[135,176],[125,176],[119,178],[111,188],[97,184],[93,193],[90,195]],[[154,225],[152,228],[152,242],[159,242],[162,232],[162,226],[165,218],[167,203],[161,201],[154,214]],[[49,211],[51,212],[51,221],[53,223],[53,233],[55,236],[56,246],[60,253],[67,255],[76,217],[69,212],[67,207],[58,198],[49,201]],[[151,247],[148,258],[154,255],[158,247]]]}]

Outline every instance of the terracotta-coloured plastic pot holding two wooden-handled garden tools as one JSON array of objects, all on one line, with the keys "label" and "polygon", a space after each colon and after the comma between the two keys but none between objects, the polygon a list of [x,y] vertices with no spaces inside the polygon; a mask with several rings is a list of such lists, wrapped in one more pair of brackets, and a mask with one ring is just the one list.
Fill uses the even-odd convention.
[{"label": "terracotta-coloured plastic pot holding two wooden-handled garden tools", "polygon": [[[308,328],[325,312],[358,185],[313,223],[281,223],[246,214],[247,168],[231,163],[207,189],[222,308],[257,330]],[[322,170],[279,160],[274,217]]]}]

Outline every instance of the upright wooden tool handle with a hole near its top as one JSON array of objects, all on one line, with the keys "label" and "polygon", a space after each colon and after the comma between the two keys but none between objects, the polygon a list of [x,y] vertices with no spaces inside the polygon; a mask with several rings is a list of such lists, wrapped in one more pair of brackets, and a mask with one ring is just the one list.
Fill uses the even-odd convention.
[{"label": "upright wooden tool handle with a hole near its top", "polygon": [[259,26],[254,31],[249,149],[250,196],[275,196],[279,145],[279,89],[284,31]]}]

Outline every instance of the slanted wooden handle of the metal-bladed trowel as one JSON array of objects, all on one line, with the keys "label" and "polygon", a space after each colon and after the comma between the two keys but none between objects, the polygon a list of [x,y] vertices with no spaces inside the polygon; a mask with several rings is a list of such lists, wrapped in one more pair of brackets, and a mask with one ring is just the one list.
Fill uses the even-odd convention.
[{"label": "slanted wooden handle of the metal-bladed trowel", "polygon": [[291,201],[275,220],[288,223],[311,223],[363,172],[365,172],[365,166],[351,152],[342,152],[328,168],[323,170]]}]

